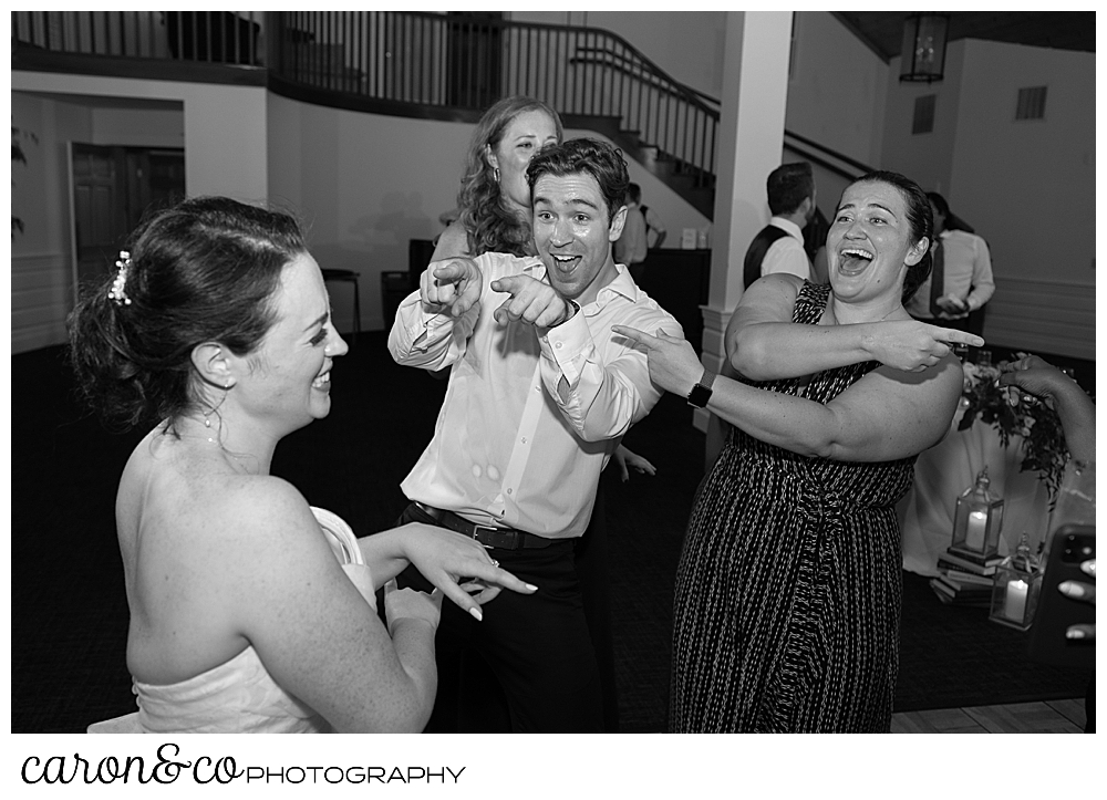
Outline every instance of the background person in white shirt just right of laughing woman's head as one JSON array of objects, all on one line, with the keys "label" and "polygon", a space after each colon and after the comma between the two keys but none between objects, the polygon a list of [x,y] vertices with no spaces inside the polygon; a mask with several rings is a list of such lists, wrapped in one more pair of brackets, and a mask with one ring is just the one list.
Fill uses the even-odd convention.
[{"label": "background person in white shirt just right of laughing woman's head", "polygon": [[[937,191],[928,191],[934,215],[934,267],[930,277],[908,301],[907,311],[922,322],[981,334],[983,318],[970,314],[992,299],[992,257],[987,242],[950,214],[950,204]],[[979,323],[979,324],[973,324]]]}]

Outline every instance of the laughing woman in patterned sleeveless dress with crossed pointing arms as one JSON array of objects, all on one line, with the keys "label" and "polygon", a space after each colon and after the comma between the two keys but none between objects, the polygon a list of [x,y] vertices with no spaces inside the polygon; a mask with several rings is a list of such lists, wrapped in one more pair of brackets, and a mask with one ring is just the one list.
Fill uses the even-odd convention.
[{"label": "laughing woman in patterned sleeveless dress with crossed pointing arms", "polygon": [[[866,175],[827,236],[829,285],[768,276],[743,297],[706,406],[734,427],[676,574],[673,731],[889,729],[894,505],[953,418],[962,372],[949,344],[983,344],[903,310],[930,270],[931,226],[914,183]],[[666,391],[710,383],[686,342],[620,332],[649,350]]]}]

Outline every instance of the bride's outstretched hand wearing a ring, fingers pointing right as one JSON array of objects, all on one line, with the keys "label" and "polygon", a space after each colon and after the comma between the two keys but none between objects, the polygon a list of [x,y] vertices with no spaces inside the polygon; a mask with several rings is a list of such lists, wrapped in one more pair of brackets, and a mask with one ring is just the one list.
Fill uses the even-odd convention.
[{"label": "bride's outstretched hand wearing a ring, fingers pointing right", "polygon": [[426,580],[478,620],[480,605],[501,589],[521,594],[532,594],[538,589],[500,569],[487,548],[475,539],[422,522],[408,522],[401,530],[407,560]]}]

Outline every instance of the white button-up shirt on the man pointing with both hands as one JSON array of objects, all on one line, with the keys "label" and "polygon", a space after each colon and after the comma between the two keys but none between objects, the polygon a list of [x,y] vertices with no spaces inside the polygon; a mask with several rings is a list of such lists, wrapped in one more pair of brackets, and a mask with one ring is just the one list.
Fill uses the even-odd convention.
[{"label": "white button-up shirt on the man pointing with both hands", "polygon": [[389,335],[397,363],[452,367],[434,438],[401,488],[479,524],[581,536],[600,471],[661,396],[645,353],[611,326],[683,331],[621,264],[594,302],[557,328],[500,324],[493,312],[508,295],[489,283],[519,273],[546,280],[546,268],[503,253],[475,261],[484,274],[479,303],[454,319],[425,311],[416,291]]}]

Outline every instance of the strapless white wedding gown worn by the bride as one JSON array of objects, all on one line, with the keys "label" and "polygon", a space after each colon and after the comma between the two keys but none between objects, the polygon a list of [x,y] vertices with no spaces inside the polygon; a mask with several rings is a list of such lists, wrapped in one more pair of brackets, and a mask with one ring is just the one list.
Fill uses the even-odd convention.
[{"label": "strapless white wedding gown worn by the bride", "polygon": [[[312,508],[346,575],[376,610],[373,579],[353,531]],[[94,723],[90,734],[329,734],[331,726],[277,685],[254,647],[187,680],[157,686],[133,680],[138,710]]]}]

